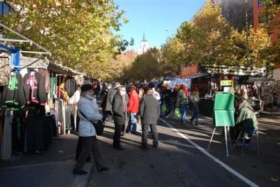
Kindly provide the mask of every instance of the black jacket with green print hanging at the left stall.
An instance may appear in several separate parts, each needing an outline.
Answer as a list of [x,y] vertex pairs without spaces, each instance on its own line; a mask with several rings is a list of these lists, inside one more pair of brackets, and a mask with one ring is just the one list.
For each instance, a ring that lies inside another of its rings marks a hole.
[[23,80],[19,73],[11,72],[8,78],[8,86],[5,97],[5,104],[10,108],[25,105],[25,95],[23,94]]

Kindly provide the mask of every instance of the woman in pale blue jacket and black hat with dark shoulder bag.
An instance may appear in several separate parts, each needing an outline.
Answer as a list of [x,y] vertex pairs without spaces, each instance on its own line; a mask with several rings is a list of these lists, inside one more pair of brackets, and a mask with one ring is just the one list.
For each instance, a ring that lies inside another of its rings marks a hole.
[[90,155],[90,152],[92,152],[94,157],[97,172],[103,172],[109,168],[102,165],[102,158],[99,152],[99,142],[96,137],[97,132],[92,124],[98,123],[98,120],[102,120],[103,116],[99,113],[97,102],[92,97],[94,93],[92,85],[82,85],[80,90],[81,97],[78,102],[78,116],[80,118],[80,122],[78,132],[79,139],[82,141],[82,151],[76,161],[73,174],[87,174],[87,172],[83,170],[83,165]]

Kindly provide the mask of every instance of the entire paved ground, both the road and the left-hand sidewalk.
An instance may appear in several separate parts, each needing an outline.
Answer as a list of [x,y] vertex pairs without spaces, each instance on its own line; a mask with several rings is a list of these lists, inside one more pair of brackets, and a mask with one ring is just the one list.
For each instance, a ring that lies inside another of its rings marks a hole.
[[43,154],[0,162],[0,186],[279,186],[279,118],[258,118],[259,157],[253,141],[244,156],[237,146],[227,157],[221,130],[214,135],[211,155],[204,150],[211,137],[211,118],[200,117],[198,127],[179,125],[178,118],[160,119],[160,145],[153,148],[150,139],[148,151],[139,147],[140,125],[137,135],[122,137],[125,151],[113,149],[113,123],[107,123],[99,139],[110,170],[97,174],[93,163],[87,163],[85,169],[92,170],[87,176],[71,173],[77,136],[59,136]]

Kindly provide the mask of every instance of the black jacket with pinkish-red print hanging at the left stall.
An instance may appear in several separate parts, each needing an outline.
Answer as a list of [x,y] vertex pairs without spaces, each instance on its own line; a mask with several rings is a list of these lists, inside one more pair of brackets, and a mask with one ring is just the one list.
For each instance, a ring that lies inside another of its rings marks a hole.
[[27,103],[37,103],[45,105],[47,95],[45,94],[45,79],[38,71],[30,71],[23,78],[25,101]]

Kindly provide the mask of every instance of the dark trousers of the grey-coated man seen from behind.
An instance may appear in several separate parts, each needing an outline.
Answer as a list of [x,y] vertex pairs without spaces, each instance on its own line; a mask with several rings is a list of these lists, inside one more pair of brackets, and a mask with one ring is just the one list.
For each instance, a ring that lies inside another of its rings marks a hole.
[[153,134],[153,146],[158,146],[158,130],[157,125],[154,124],[142,124],[142,146],[148,146],[148,129],[151,127]]

